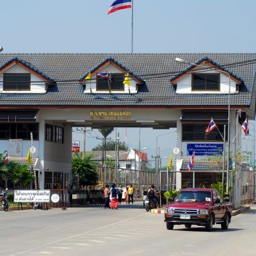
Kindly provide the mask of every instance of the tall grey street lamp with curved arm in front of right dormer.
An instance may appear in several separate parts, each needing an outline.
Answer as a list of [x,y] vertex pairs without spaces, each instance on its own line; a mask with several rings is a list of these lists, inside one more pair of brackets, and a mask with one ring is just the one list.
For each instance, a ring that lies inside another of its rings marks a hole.
[[[180,59],[180,58],[175,58],[175,61],[179,61],[181,63],[189,64],[189,65],[194,65],[197,67],[201,67],[202,65],[197,65],[195,63],[190,63],[189,61]],[[230,159],[230,87],[231,87],[231,79],[230,79],[230,74],[227,71],[223,71],[214,67],[211,67],[213,70],[223,72],[227,74],[228,76],[228,156],[227,156],[227,188],[226,192],[228,194],[228,187],[229,187],[229,159]],[[224,151],[224,150],[223,150]],[[223,156],[225,155],[225,152],[223,152]]]

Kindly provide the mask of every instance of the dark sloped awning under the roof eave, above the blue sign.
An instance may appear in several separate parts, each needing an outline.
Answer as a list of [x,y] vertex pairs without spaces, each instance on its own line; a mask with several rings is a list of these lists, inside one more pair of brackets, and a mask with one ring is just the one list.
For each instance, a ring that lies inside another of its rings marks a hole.
[[209,122],[213,118],[214,122],[228,122],[228,111],[182,111],[180,121],[184,122]]

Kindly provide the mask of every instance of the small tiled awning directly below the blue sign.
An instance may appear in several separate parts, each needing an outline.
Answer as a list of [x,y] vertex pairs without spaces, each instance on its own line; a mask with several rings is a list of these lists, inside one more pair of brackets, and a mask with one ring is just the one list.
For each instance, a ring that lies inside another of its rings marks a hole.
[[[189,158],[182,159],[182,165],[180,171],[186,171],[188,166]],[[214,161],[214,159],[195,159],[194,167],[191,171],[222,171],[222,163],[218,163],[218,161]],[[227,163],[225,163],[225,168],[227,169]]]

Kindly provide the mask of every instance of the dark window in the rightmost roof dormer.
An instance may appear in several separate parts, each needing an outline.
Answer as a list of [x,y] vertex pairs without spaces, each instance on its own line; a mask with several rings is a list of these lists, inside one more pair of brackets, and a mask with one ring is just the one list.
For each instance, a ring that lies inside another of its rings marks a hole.
[[192,91],[220,91],[220,74],[192,74]]

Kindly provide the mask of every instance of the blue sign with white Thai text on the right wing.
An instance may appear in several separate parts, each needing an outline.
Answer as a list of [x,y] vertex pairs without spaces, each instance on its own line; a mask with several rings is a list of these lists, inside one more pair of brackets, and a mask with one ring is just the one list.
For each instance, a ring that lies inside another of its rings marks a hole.
[[187,156],[214,156],[223,154],[223,144],[187,144]]

